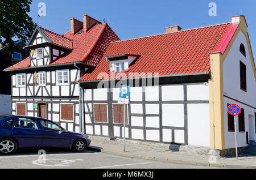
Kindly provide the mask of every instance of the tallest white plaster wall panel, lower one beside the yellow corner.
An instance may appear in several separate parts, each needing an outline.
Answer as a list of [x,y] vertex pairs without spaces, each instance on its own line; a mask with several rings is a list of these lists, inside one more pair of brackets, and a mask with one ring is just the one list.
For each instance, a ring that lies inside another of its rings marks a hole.
[[188,144],[210,147],[209,104],[188,104]]

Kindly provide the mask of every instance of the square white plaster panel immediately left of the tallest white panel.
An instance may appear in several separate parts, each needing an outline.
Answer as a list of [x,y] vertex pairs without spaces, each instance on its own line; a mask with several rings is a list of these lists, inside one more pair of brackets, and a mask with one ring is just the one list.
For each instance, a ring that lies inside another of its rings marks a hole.
[[184,127],[184,105],[163,104],[163,126]]

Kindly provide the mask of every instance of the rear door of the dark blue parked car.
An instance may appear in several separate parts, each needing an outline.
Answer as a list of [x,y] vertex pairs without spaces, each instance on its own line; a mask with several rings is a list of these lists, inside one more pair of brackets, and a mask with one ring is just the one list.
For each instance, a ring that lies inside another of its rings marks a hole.
[[13,127],[13,136],[18,139],[19,147],[42,146],[43,132],[34,118],[19,117]]

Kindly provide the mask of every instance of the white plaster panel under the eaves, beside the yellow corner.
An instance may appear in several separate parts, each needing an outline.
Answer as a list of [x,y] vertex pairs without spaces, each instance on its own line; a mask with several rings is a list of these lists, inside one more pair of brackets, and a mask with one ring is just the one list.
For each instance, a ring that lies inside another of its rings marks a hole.
[[209,100],[208,84],[193,84],[187,85],[188,101],[192,100]]

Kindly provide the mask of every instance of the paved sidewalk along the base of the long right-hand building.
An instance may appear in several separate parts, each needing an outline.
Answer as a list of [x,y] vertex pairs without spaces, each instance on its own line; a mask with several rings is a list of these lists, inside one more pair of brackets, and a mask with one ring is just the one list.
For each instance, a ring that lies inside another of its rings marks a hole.
[[150,145],[135,144],[129,141],[126,141],[126,152],[123,152],[123,142],[120,140],[103,139],[97,136],[90,136],[90,138],[92,139],[90,148],[116,156],[220,168],[256,168],[256,156],[251,155],[240,155],[238,160],[236,160],[236,157],[217,158],[216,163],[210,164],[210,155],[174,152],[164,148],[157,149]]

